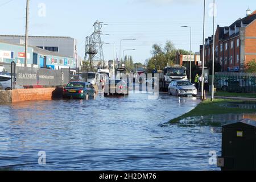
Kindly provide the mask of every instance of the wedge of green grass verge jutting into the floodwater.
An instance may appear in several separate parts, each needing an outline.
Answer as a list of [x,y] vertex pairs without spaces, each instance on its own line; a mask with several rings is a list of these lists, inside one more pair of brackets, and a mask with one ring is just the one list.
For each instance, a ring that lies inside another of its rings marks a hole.
[[256,113],[256,109],[241,109],[233,107],[225,107],[221,105],[227,104],[242,104],[244,101],[227,100],[227,99],[216,99],[213,102],[210,100],[203,101],[196,106],[195,109],[189,111],[186,114],[181,115],[175,119],[172,119],[171,123],[179,123],[182,119],[189,117],[200,117],[215,114],[242,114],[242,113]]

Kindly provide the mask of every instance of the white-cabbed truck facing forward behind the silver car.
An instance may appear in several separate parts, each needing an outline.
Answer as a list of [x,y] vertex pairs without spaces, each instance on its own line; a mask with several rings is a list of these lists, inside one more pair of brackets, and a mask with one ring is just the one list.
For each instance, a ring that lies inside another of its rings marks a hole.
[[159,73],[159,89],[167,92],[170,83],[177,80],[188,80],[187,68],[181,65],[165,67],[163,72]]

